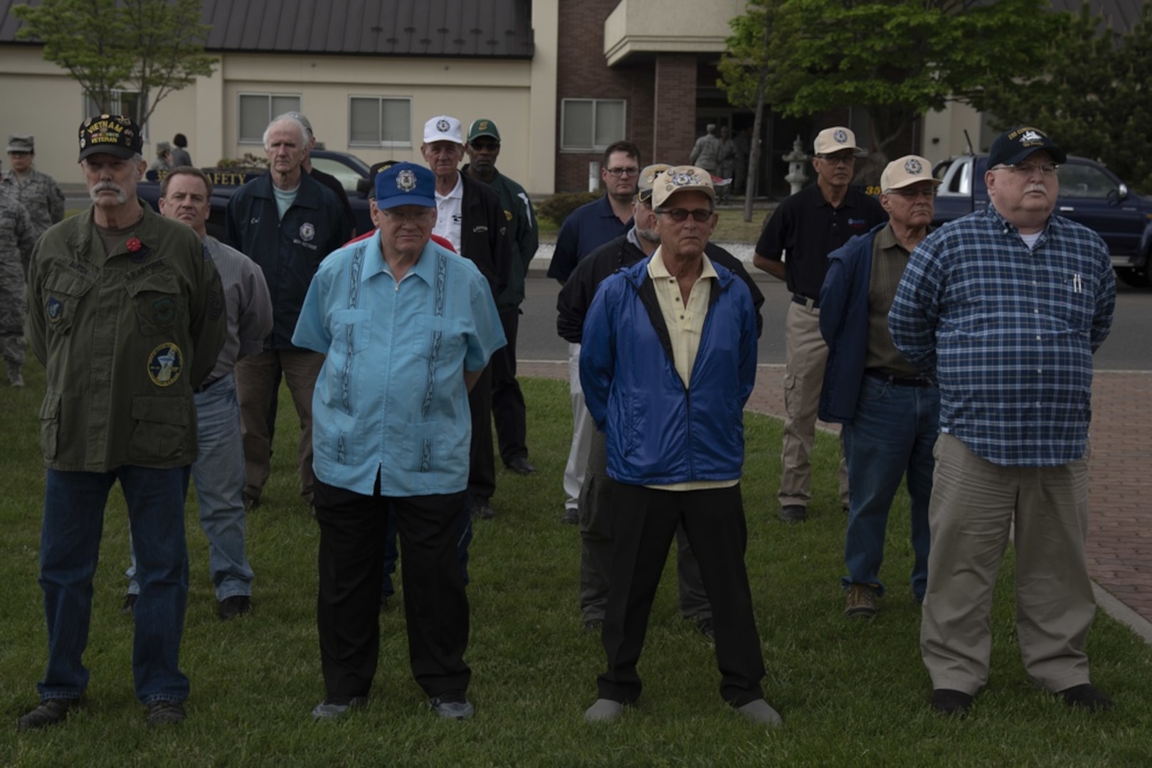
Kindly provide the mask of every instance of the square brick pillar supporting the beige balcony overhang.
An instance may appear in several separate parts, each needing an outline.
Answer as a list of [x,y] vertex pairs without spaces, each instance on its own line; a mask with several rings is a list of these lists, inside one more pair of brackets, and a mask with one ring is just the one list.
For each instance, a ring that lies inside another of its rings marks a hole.
[[696,70],[695,54],[657,54],[652,162],[688,162],[696,142]]

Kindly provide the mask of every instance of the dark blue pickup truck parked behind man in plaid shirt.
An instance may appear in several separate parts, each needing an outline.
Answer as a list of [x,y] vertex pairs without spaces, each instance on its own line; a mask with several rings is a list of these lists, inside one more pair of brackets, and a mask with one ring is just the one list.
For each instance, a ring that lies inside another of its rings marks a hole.
[[[987,207],[987,167],[986,154],[963,154],[935,166],[933,175],[942,183],[937,191],[934,225]],[[1115,174],[1085,158],[1068,158],[1059,177],[1055,212],[1104,238],[1122,282],[1152,287],[1152,199],[1130,192]]]

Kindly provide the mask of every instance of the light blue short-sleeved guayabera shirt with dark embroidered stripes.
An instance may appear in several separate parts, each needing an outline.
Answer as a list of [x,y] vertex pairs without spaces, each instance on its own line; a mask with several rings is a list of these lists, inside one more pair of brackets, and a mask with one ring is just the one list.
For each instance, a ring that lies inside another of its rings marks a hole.
[[468,485],[464,371],[505,345],[492,290],[434,243],[396,283],[369,237],[320,263],[293,344],[326,355],[312,396],[312,467],[324,482],[385,496]]

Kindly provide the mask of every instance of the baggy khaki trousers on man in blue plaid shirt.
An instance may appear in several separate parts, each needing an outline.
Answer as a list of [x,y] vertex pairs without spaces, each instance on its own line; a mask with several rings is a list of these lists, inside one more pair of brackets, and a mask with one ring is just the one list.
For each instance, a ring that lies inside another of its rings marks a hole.
[[933,689],[976,694],[988,680],[992,590],[1015,523],[1016,634],[1037,685],[1089,682],[1096,616],[1087,576],[1087,459],[1000,466],[949,434],[937,440],[920,656]]

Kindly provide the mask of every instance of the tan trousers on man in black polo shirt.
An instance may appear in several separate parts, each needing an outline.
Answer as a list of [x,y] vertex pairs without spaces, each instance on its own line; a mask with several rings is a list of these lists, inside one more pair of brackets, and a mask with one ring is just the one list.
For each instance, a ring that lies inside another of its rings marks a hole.
[[[820,335],[820,311],[789,302],[785,317],[785,438],[780,451],[781,507],[806,508],[812,501],[812,442],[824,386],[828,347]],[[840,505],[848,509],[848,466],[843,449],[836,478]]]

